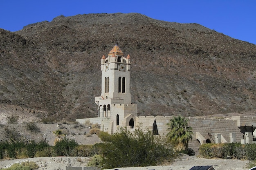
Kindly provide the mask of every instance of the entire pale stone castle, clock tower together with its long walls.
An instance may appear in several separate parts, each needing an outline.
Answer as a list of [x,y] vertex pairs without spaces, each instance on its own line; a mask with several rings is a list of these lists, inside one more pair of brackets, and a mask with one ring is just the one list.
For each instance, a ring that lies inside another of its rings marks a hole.
[[[137,104],[131,104],[130,94],[130,55],[124,57],[118,45],[115,45],[101,58],[101,96],[95,97],[98,105],[98,117],[76,119],[81,124],[90,121],[101,125],[101,131],[114,134],[118,127],[130,131],[137,126],[152,130],[153,135],[165,136],[167,123],[172,116],[137,116]],[[234,116],[231,119],[213,119],[187,117],[193,129],[193,140],[189,148],[198,154],[198,148],[205,143],[254,143],[256,117]]]

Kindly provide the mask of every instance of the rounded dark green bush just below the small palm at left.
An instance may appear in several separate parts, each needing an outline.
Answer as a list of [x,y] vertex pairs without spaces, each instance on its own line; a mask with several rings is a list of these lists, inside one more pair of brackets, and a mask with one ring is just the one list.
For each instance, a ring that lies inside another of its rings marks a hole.
[[74,139],[68,139],[67,137],[56,142],[53,147],[54,156],[70,156],[70,153],[74,152],[73,150],[78,146]]

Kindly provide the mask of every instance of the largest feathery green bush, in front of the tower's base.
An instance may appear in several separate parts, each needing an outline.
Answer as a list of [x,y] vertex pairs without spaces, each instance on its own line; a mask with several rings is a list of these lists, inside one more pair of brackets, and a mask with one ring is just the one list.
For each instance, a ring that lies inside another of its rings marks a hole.
[[114,135],[100,132],[99,137],[105,142],[101,145],[103,168],[153,166],[174,154],[165,138],[155,137],[150,130],[121,128]]

